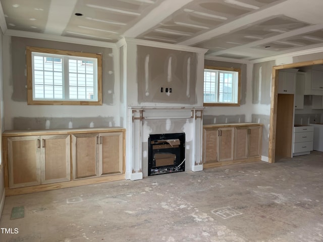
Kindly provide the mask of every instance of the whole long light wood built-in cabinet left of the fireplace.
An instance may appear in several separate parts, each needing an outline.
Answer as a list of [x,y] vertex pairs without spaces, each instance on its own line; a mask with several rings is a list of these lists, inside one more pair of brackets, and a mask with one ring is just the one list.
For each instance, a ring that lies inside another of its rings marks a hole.
[[6,195],[125,179],[125,134],[120,127],[5,131]]

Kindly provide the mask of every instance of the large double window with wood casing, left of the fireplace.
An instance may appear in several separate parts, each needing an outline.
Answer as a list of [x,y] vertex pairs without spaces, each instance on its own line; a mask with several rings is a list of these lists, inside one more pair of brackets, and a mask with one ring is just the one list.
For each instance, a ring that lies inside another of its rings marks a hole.
[[100,105],[101,55],[27,47],[28,104]]

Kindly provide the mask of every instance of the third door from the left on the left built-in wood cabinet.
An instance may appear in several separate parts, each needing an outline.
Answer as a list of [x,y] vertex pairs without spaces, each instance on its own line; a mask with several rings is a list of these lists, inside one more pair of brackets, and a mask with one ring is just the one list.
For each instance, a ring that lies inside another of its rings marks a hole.
[[73,178],[98,176],[98,134],[72,136]]

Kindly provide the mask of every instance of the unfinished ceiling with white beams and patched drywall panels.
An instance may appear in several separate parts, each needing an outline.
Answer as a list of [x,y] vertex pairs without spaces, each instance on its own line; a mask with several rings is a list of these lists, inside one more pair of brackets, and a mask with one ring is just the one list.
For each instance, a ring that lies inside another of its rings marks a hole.
[[[131,37],[256,59],[323,46],[323,0],[0,0],[0,26],[117,42]],[[83,14],[76,16],[75,13]]]

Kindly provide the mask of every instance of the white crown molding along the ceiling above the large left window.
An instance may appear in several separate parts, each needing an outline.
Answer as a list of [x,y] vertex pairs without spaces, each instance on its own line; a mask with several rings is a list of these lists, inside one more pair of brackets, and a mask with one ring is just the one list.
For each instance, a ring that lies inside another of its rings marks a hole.
[[105,47],[105,48],[117,48],[117,45],[115,43],[89,40],[89,39],[79,39],[79,38],[68,37],[68,36],[58,36],[58,35],[52,35],[52,34],[34,33],[34,32],[27,32],[27,31],[21,31],[21,30],[8,29],[5,35],[32,38],[32,39],[59,41],[59,42],[66,42],[66,43],[73,43],[73,44],[84,44],[84,45],[91,45],[91,46],[98,46],[98,47]]

